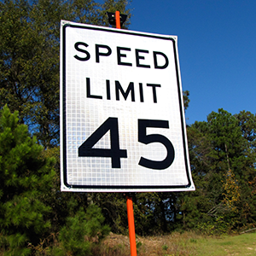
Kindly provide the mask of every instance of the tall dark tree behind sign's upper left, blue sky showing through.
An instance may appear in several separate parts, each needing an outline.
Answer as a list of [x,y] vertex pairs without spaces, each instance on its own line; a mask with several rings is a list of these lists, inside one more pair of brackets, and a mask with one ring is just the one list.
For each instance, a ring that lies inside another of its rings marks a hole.
[[[108,26],[106,11],[125,0],[0,1],[0,108],[18,110],[45,148],[59,143],[60,21]],[[125,23],[129,25],[129,19]]]

